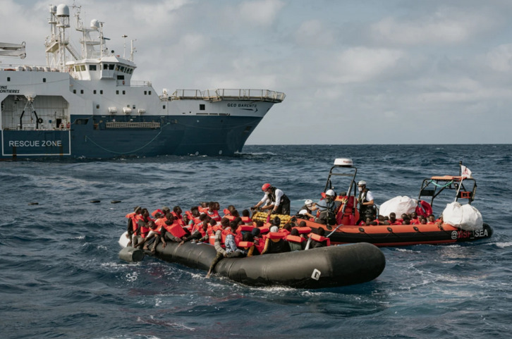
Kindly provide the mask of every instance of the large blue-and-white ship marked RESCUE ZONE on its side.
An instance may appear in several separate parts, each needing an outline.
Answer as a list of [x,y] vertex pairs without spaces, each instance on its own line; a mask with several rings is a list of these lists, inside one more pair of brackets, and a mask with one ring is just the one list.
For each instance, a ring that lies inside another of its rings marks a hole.
[[[285,94],[271,90],[163,90],[133,80],[125,58],[107,49],[103,23],[69,41],[70,10],[50,6],[47,66],[0,63],[0,159],[232,155]],[[124,37],[124,36],[123,36]],[[25,43],[0,42],[0,56],[25,56]]]

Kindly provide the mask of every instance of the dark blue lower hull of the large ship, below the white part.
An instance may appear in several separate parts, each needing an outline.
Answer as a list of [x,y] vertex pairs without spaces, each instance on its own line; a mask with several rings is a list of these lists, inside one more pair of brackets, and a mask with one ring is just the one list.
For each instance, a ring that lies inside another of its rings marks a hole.
[[[232,156],[242,150],[250,132],[262,118],[145,116],[144,121],[157,121],[154,127],[147,128],[130,125],[107,128],[106,123],[113,120],[111,117],[72,116],[71,119],[74,123],[69,130],[2,130],[1,159]],[[117,118],[115,123],[119,120]],[[138,123],[138,119],[130,120]]]

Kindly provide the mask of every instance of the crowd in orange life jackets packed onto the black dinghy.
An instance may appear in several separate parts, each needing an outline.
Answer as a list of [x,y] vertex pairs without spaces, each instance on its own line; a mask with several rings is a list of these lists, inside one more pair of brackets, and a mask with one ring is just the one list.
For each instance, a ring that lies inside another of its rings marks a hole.
[[[273,187],[264,187],[268,192],[276,191]],[[279,202],[286,201],[284,197],[277,195]],[[185,212],[179,206],[173,207],[172,211],[162,207],[151,213],[148,209],[135,207],[126,215],[128,246],[154,254],[159,244],[166,247],[168,242],[178,242],[179,247],[185,242],[207,242],[217,250],[209,276],[224,257],[250,257],[331,245],[323,228],[312,229],[305,221],[296,218],[281,225],[281,218],[272,216],[276,211],[281,212],[274,209],[275,199],[276,195],[269,197],[259,209],[269,212],[267,222],[252,221],[250,210],[244,209],[240,215],[233,205],[224,209],[221,216],[219,202],[203,202]],[[258,211],[257,207],[252,211]]]

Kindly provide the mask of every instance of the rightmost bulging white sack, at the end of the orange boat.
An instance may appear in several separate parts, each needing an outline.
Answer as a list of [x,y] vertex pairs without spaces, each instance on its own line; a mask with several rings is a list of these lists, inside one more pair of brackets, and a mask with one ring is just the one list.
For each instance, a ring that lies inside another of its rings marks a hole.
[[470,204],[461,205],[458,202],[446,204],[443,221],[451,226],[461,228],[461,230],[482,230],[484,228],[482,214]]

